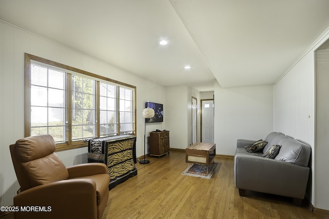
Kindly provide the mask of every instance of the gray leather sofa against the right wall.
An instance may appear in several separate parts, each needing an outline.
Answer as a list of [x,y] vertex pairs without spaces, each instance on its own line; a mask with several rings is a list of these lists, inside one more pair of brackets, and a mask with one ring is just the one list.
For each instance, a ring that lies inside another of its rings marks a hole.
[[[264,192],[294,198],[301,205],[309,175],[310,146],[293,137],[271,132],[265,140],[266,146],[258,152],[245,148],[256,141],[239,139],[234,155],[234,180],[241,196],[245,190]],[[273,145],[281,145],[274,158],[262,155]]]

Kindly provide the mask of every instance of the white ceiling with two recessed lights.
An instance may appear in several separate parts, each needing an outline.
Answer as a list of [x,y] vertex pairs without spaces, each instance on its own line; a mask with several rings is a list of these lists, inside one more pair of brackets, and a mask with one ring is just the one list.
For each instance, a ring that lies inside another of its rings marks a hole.
[[0,17],[163,86],[209,91],[214,79],[275,83],[329,27],[329,1],[0,0]]

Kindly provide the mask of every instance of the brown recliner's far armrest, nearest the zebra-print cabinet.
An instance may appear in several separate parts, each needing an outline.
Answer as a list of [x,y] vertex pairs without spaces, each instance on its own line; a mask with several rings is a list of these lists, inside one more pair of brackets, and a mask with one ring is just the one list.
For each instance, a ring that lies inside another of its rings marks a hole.
[[107,174],[107,167],[102,163],[78,164],[67,168],[68,178],[76,178],[82,176]]

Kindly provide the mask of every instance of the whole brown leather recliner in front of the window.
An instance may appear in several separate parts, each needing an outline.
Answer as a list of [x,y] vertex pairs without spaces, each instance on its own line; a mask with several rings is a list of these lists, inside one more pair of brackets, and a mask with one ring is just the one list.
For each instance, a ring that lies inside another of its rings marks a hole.
[[101,218],[108,199],[105,164],[66,168],[54,153],[51,135],[37,135],[10,145],[20,183],[14,196],[15,219]]

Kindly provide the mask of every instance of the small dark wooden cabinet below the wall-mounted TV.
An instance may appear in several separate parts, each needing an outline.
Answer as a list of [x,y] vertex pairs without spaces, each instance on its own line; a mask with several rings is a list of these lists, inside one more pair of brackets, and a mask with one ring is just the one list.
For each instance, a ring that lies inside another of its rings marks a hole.
[[150,132],[150,155],[162,156],[169,154],[169,131]]

